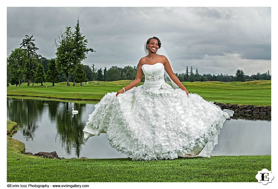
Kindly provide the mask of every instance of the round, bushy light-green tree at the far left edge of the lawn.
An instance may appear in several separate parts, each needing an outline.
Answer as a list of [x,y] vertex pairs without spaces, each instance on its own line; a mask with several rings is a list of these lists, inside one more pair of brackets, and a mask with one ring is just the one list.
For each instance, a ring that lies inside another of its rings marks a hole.
[[28,62],[28,54],[20,48],[11,51],[7,58],[7,70],[11,77],[11,85],[18,81],[20,86],[22,79],[25,76],[26,63]]

